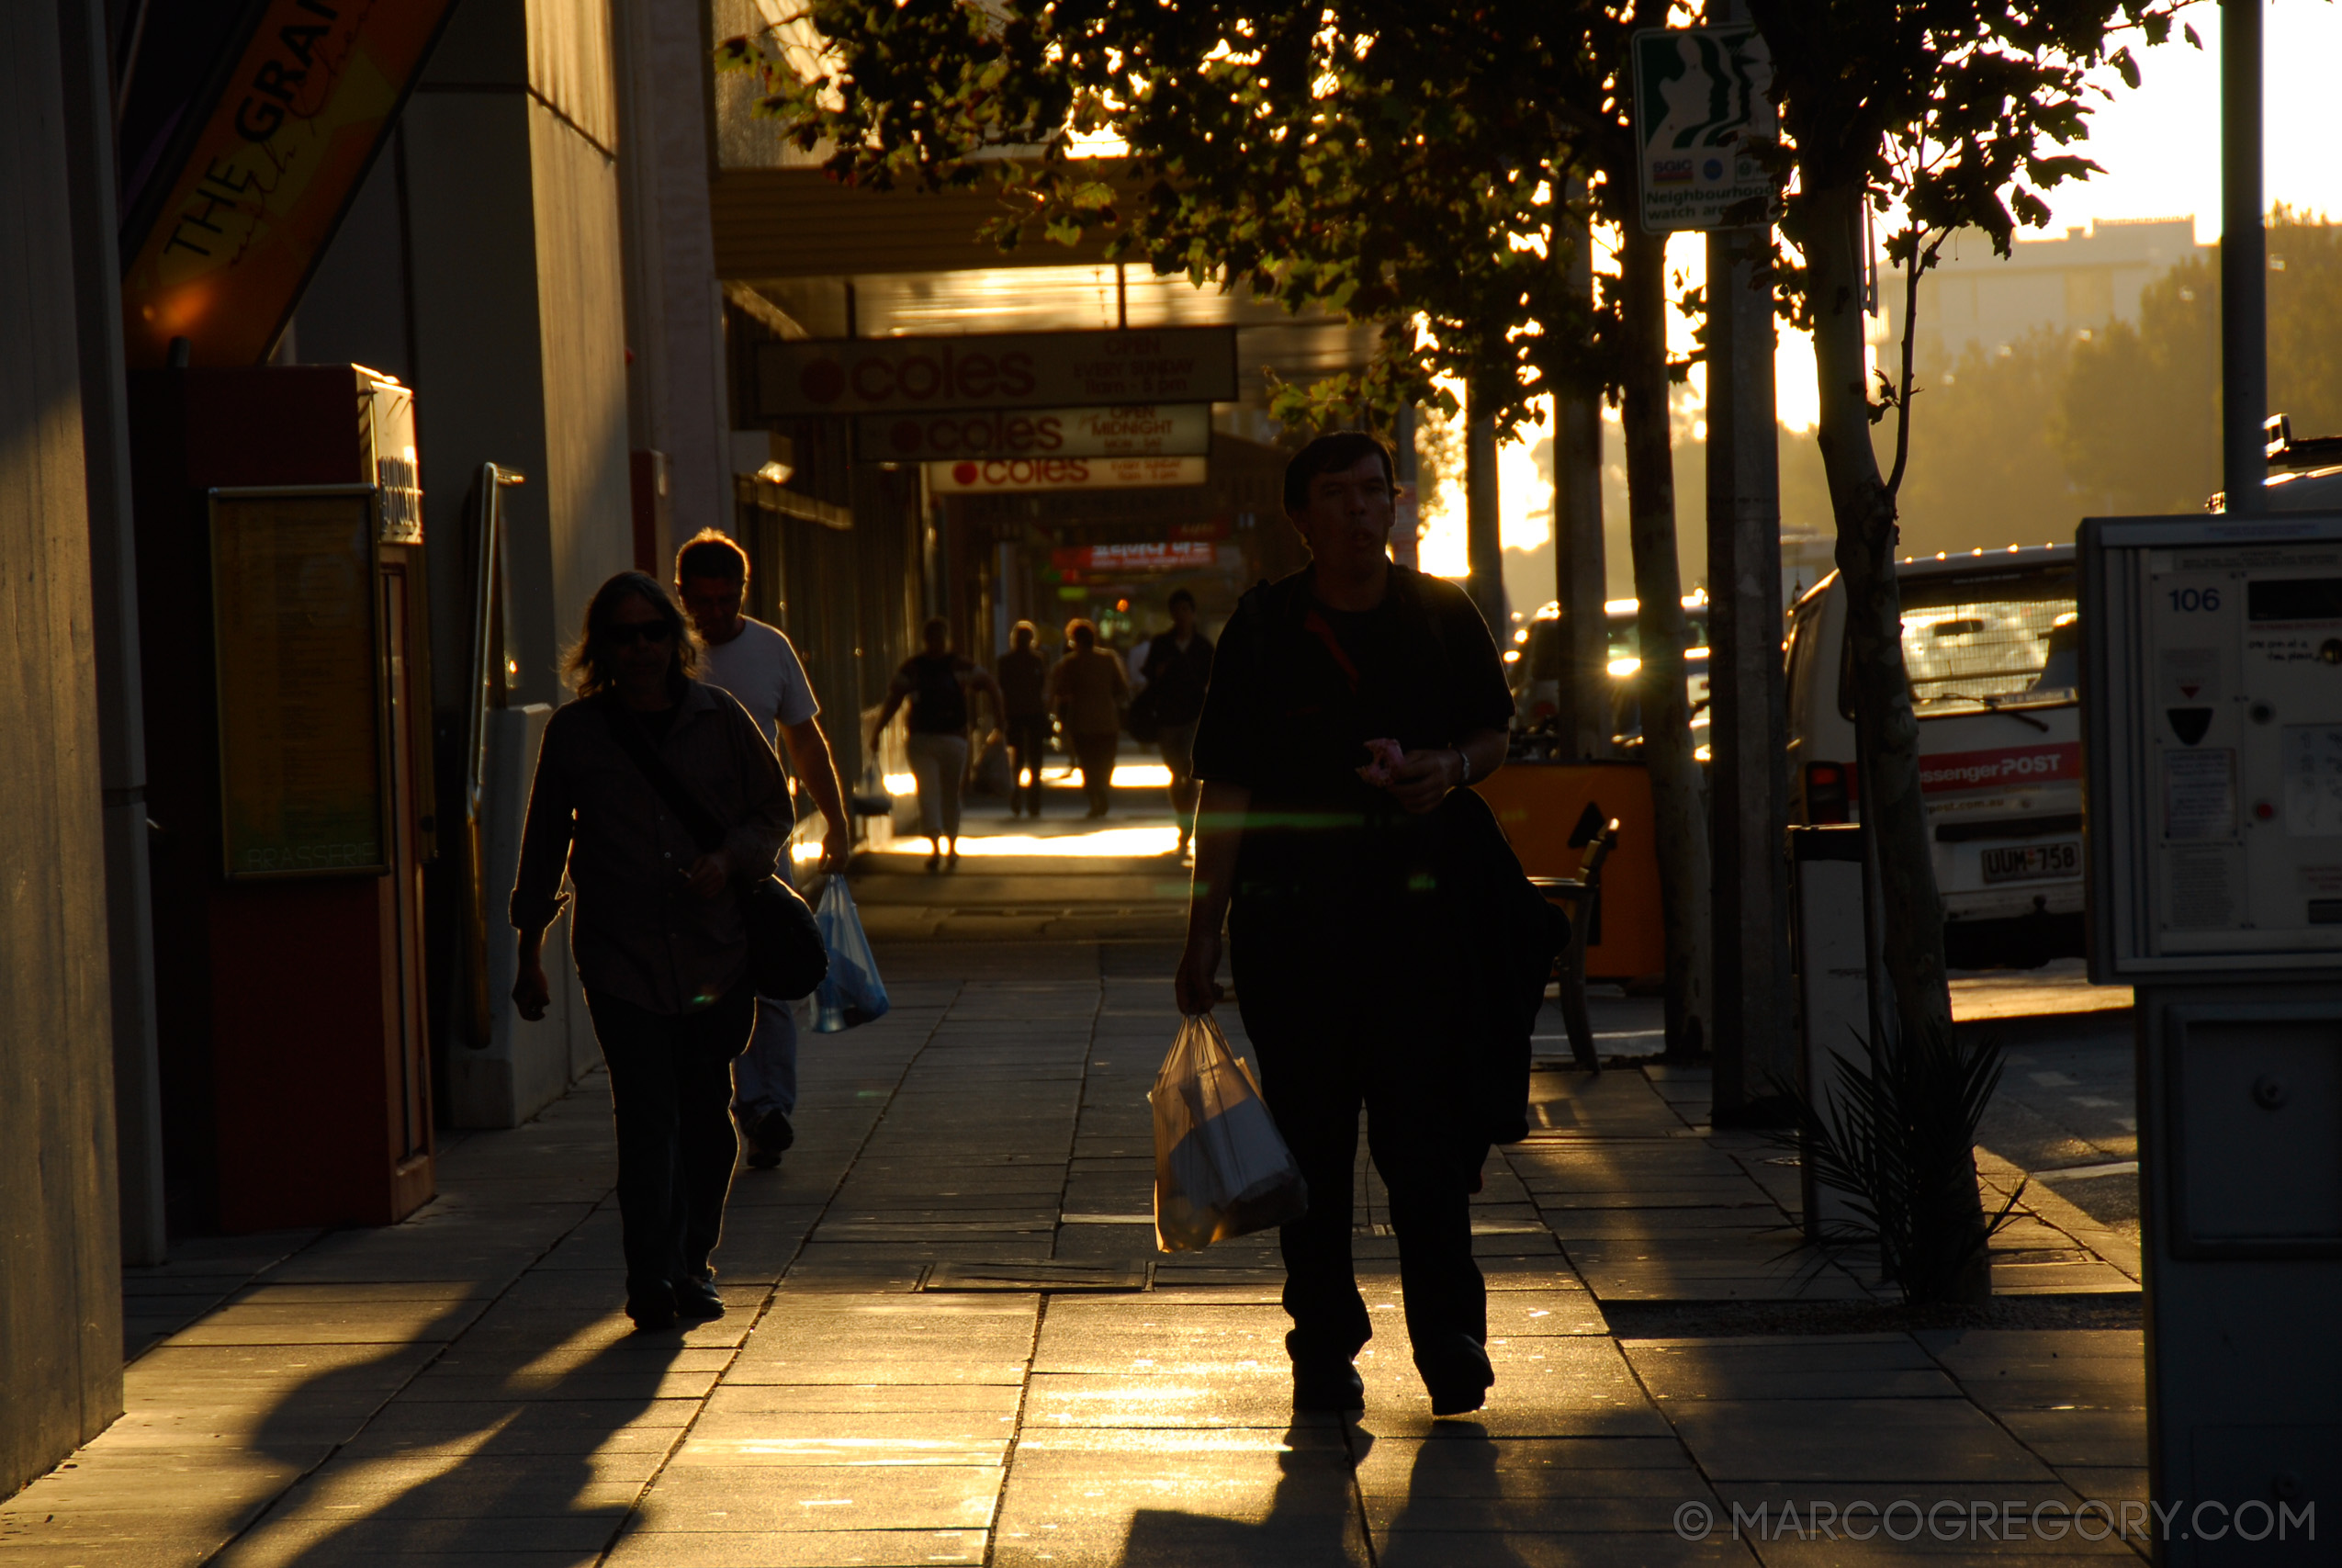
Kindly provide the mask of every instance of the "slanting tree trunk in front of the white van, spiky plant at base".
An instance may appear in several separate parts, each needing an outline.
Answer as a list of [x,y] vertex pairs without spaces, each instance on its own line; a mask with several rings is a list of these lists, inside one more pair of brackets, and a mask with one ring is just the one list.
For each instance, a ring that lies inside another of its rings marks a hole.
[[[1855,724],[1862,734],[1857,788],[1878,846],[1881,916],[1895,1022],[1906,1050],[1951,1048],[1951,991],[1944,980],[1944,900],[1934,886],[1927,806],[1918,788],[1918,717],[1902,656],[1902,598],[1895,584],[1895,497],[1871,448],[1869,375],[1862,352],[1862,185],[1808,190],[1806,244],[1813,298],[1813,354],[1822,394],[1815,438],[1838,523],[1845,579],[1848,659]],[[1988,1301],[1984,1209],[1974,1170],[1963,1209],[1974,1223],[1974,1259],[1956,1298]]]

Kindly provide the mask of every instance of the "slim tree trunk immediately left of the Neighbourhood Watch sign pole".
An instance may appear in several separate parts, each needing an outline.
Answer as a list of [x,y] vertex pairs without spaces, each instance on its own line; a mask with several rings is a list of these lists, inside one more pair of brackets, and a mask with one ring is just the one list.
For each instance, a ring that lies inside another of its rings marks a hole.
[[1628,539],[1642,640],[1642,759],[1651,771],[1658,844],[1658,905],[1668,942],[1668,1055],[1707,1045],[1714,987],[1707,926],[1707,804],[1691,755],[1691,696],[1684,691],[1684,574],[1675,558],[1675,455],[1668,427],[1668,239],[1632,220],[1618,258],[1628,363],[1621,375],[1625,429]]

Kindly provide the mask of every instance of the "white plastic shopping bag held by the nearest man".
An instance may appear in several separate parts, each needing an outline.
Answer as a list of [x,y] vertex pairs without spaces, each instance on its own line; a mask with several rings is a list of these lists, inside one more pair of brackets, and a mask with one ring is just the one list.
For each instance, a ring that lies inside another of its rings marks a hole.
[[1155,1106],[1155,1247],[1194,1252],[1309,1207],[1260,1085],[1211,1013],[1183,1020],[1148,1095]]

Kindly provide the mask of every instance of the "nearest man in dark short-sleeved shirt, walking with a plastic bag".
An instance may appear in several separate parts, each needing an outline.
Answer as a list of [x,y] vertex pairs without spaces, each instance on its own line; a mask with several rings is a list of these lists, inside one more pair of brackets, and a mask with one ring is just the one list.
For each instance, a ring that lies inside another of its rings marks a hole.
[[[1480,1409],[1487,1289],[1471,1191],[1490,1130],[1452,977],[1443,799],[1504,764],[1511,694],[1471,600],[1389,560],[1393,471],[1372,436],[1319,436],[1283,504],[1312,565],[1244,595],[1194,736],[1204,783],[1185,1015],[1220,996],[1227,923],[1262,1092],[1309,1186],[1281,1230],[1295,1409],[1358,1409],[1372,1336],[1351,1270],[1358,1113],[1391,1193],[1415,1366],[1438,1416]],[[1522,1092],[1525,1099],[1525,1092]],[[1518,1137],[1518,1134],[1515,1134]]]

